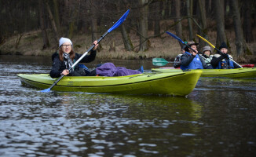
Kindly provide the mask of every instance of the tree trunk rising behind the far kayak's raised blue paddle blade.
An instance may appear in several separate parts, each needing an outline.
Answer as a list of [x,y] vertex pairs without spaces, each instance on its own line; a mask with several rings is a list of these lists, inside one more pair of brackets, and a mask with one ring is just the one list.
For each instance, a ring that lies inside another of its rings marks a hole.
[[[178,20],[181,19],[181,1],[180,0],[175,0],[174,1],[175,3],[175,22],[177,22]],[[176,35],[180,38],[183,38],[183,35],[182,35],[182,26],[181,26],[181,21],[178,22],[176,25],[175,25],[175,30],[176,30]],[[180,43],[180,46],[182,47],[183,44],[181,42]]]

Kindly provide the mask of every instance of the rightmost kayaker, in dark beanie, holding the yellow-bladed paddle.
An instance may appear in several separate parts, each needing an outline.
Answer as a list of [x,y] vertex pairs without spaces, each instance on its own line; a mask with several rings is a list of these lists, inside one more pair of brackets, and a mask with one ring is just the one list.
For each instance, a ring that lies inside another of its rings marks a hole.
[[214,54],[213,59],[210,61],[210,64],[215,69],[240,68],[239,65],[235,64],[232,61],[232,56],[228,54],[229,49],[225,42],[221,43],[221,46],[219,47],[219,49],[221,50],[221,53],[217,52],[216,54]]

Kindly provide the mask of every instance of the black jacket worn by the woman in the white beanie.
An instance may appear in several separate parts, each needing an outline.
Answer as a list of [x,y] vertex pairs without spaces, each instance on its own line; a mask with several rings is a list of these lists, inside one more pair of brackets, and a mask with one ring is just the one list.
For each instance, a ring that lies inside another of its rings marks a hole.
[[[81,56],[82,56],[82,54],[75,53],[75,59],[73,60],[73,63],[75,63],[76,60],[79,60],[79,58]],[[91,50],[90,55],[86,55],[85,57],[83,57],[79,63],[89,63],[89,62],[93,61],[95,59],[95,57],[96,57],[96,51]],[[53,65],[52,65],[51,71],[49,72],[49,75],[52,78],[58,78],[58,77],[60,77],[61,72],[67,68],[64,64],[64,61],[60,61],[58,52],[53,53],[52,60],[53,60]],[[75,71],[78,71],[78,70],[79,70],[79,64],[76,64]]]

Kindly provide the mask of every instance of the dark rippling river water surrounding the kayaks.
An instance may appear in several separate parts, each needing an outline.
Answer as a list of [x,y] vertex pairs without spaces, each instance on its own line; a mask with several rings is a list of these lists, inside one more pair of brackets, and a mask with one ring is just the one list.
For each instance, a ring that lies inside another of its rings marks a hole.
[[50,67],[0,56],[0,156],[256,156],[256,79],[201,78],[187,97],[166,97],[41,93],[16,76]]

